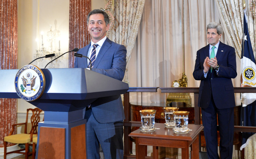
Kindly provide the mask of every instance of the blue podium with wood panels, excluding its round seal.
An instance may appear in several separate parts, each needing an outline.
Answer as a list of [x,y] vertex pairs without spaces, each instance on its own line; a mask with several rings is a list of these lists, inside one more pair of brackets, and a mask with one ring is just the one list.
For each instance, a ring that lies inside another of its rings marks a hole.
[[[0,98],[20,98],[15,90],[19,70],[0,70]],[[42,69],[45,90],[29,103],[45,111],[39,123],[36,158],[85,159],[83,108],[100,97],[124,94],[127,83],[83,69]]]

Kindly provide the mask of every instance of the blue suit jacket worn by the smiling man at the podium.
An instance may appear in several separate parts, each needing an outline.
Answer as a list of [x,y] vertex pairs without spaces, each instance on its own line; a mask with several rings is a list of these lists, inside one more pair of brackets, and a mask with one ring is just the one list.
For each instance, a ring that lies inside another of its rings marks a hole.
[[[79,49],[78,54],[87,56],[91,43]],[[88,68],[87,58],[75,58],[75,68]],[[126,48],[108,38],[104,41],[96,57],[92,71],[108,77],[123,80],[126,68]],[[91,111],[99,123],[110,123],[125,119],[120,95],[96,99],[91,103]],[[85,113],[86,114],[86,113]],[[89,117],[85,116],[85,119]]]

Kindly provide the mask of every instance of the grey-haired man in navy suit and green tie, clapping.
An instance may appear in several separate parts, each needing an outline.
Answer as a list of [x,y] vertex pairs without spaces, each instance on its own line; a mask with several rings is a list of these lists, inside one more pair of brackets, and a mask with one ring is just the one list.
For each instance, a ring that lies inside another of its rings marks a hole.
[[[198,106],[201,107],[204,137],[209,159],[219,159],[217,121],[220,133],[220,158],[232,159],[235,96],[231,79],[237,76],[235,49],[219,41],[222,26],[207,26],[207,46],[196,53],[193,77],[201,80]],[[218,118],[217,118],[218,115]]]

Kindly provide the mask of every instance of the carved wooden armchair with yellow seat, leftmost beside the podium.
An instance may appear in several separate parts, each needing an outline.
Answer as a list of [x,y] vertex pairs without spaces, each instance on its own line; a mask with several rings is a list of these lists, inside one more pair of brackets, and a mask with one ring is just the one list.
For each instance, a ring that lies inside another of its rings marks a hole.
[[[27,133],[27,127],[28,127],[28,115],[29,112],[32,111],[32,116],[31,116],[31,130],[29,133]],[[6,155],[11,154],[11,153],[20,153],[20,154],[25,154],[25,159],[28,159],[29,156],[32,155],[31,152],[29,152],[29,143],[32,142],[33,137],[37,136],[37,130],[34,129],[35,125],[38,125],[40,122],[40,113],[42,112],[41,109],[35,108],[35,109],[27,109],[27,117],[26,117],[26,122],[25,123],[19,123],[19,124],[13,124],[12,125],[12,131],[9,133],[8,136],[4,137],[4,159],[6,159]],[[24,133],[19,133],[19,134],[14,134],[13,132],[15,130],[15,127],[17,125],[25,125]],[[16,143],[16,144],[25,144],[25,148],[20,149],[20,150],[15,150],[11,152],[7,152],[7,142],[10,143]],[[25,152],[21,152],[24,151]]]

